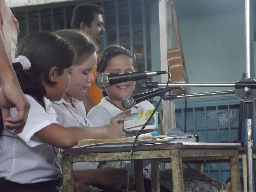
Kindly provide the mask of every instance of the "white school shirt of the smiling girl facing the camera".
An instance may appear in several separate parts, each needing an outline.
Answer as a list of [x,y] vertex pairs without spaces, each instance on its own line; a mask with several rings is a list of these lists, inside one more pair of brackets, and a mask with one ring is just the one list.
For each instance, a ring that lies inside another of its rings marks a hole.
[[[142,101],[131,108],[132,113],[137,113],[139,111],[146,111],[154,109],[148,101]],[[107,101],[107,97],[101,99],[101,102],[93,107],[87,114],[87,118],[92,123],[93,127],[100,127],[110,124],[111,118],[115,117],[117,114],[123,112],[118,107],[114,106],[112,103]]]

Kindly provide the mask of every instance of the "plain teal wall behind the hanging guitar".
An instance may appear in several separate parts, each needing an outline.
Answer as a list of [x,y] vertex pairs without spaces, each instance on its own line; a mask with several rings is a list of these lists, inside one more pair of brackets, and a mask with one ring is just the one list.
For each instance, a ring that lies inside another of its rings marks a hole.
[[[159,38],[159,28],[155,27],[158,18],[154,16],[158,12],[157,4],[158,2],[152,3],[152,42],[156,41],[156,37]],[[174,4],[189,82],[241,80],[246,69],[244,1],[175,0]],[[174,47],[175,35],[173,42]],[[160,70],[159,44],[151,45],[154,52],[152,70]],[[232,89],[192,87],[191,93]]]

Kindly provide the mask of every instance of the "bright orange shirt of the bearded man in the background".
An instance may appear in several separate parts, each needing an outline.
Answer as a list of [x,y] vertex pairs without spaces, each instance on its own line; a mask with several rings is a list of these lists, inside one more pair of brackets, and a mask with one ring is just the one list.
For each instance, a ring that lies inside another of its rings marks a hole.
[[[97,58],[99,58],[98,53],[97,53]],[[87,93],[91,97],[92,102],[94,103],[95,106],[98,105],[101,99],[104,97],[102,95],[102,89],[99,88],[95,83],[95,78],[97,76],[96,68],[97,66],[95,66],[92,70],[94,81],[91,83],[91,87],[87,90]]]

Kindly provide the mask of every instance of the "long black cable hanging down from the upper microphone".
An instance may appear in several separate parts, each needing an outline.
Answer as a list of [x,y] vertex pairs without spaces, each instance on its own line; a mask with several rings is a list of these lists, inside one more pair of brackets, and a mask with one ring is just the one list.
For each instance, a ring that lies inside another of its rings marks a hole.
[[129,182],[130,182],[130,175],[131,175],[131,165],[132,165],[132,156],[133,156],[133,152],[134,152],[134,148],[135,148],[135,143],[139,137],[139,135],[141,134],[141,132],[143,131],[143,129],[146,127],[146,125],[148,125],[149,121],[151,120],[151,118],[153,117],[154,113],[156,112],[156,109],[158,108],[158,106],[160,105],[163,97],[165,96],[165,93],[167,91],[168,85],[170,83],[170,78],[171,78],[171,73],[167,72],[168,74],[168,81],[167,84],[165,86],[165,91],[163,92],[161,98],[159,99],[155,109],[153,110],[152,114],[150,115],[149,119],[147,120],[147,122],[143,125],[143,127],[140,129],[140,131],[138,132],[137,136],[134,139],[133,145],[132,145],[132,149],[131,149],[131,157],[130,157],[130,164],[129,164],[129,168],[128,168],[128,177],[127,177],[127,185],[126,185],[126,191],[129,192]]

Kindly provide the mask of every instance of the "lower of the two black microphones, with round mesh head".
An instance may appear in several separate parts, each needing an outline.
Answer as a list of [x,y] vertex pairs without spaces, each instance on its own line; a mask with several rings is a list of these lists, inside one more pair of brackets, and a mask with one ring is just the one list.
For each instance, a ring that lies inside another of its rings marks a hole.
[[[167,88],[166,92],[171,91],[173,89],[173,87],[169,87]],[[134,105],[145,101],[149,98],[155,97],[155,96],[161,96],[165,91],[165,88],[160,88],[154,91],[149,91],[146,93],[142,93],[139,95],[134,95],[134,96],[125,96],[122,98],[121,100],[121,105],[122,107],[124,107],[125,109],[130,109],[132,108]]]

